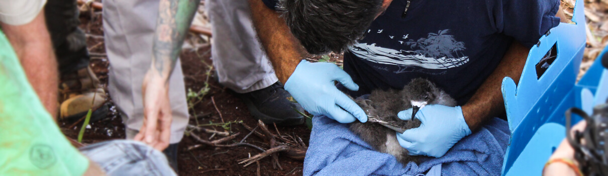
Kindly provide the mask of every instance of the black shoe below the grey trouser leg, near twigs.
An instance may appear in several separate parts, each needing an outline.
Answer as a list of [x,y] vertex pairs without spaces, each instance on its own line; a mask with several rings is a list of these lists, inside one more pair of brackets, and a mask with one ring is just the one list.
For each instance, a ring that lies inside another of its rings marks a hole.
[[252,116],[266,124],[289,126],[304,123],[304,116],[296,111],[304,112],[304,109],[300,104],[288,100],[291,95],[283,89],[280,82],[239,95]]

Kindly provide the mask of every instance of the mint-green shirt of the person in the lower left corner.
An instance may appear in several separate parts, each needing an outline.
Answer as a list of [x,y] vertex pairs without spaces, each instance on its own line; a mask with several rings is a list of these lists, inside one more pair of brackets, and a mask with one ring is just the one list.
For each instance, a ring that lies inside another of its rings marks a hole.
[[0,30],[0,175],[82,175],[88,166],[36,96]]

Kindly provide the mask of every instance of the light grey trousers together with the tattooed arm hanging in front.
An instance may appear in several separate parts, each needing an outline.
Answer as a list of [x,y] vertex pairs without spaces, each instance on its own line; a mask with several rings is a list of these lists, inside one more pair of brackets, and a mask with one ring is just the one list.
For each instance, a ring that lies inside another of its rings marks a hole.
[[[159,8],[159,0],[103,1],[103,31],[110,67],[108,91],[123,118],[126,138],[164,150],[176,171],[178,143],[189,117],[184,75],[177,58],[186,31],[179,30],[184,26],[187,29],[196,5],[171,9]],[[170,12],[159,15],[160,10]],[[176,12],[180,10],[188,12]],[[157,32],[157,26],[165,27],[165,33]],[[149,74],[151,71],[154,74]]]

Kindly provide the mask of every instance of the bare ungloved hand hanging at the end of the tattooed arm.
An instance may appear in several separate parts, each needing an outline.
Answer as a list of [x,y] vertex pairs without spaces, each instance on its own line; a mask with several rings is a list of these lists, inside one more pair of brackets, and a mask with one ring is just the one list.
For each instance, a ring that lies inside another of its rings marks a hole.
[[150,69],[143,78],[142,93],[143,125],[134,140],[162,151],[169,146],[172,120],[166,79]]

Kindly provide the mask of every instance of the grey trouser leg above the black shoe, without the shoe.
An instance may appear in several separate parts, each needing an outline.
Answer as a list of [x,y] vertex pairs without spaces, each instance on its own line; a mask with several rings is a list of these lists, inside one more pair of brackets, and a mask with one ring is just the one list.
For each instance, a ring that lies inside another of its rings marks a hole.
[[251,21],[247,0],[206,0],[211,20],[211,58],[219,83],[237,93],[266,88],[277,82]]

